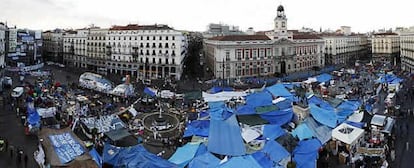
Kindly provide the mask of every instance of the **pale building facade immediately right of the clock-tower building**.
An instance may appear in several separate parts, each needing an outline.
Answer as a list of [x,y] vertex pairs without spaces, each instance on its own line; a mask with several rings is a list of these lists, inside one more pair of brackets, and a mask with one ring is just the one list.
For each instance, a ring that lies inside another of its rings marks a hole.
[[353,64],[368,54],[366,35],[322,34],[326,65]]

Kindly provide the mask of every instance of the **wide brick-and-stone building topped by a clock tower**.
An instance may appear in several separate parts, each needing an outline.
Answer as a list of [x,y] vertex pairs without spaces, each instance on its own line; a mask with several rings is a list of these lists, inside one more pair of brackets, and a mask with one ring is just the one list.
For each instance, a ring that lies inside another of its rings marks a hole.
[[323,40],[288,31],[284,12],[283,6],[277,8],[273,31],[205,40],[206,63],[215,78],[259,77],[322,67]]

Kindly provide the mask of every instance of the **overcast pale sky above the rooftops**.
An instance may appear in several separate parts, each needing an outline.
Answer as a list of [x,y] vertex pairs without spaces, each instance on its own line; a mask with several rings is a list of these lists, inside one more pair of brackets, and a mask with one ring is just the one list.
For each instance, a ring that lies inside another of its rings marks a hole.
[[209,23],[241,30],[270,30],[282,4],[288,29],[309,27],[354,32],[414,26],[410,0],[0,0],[0,22],[18,28],[48,30],[95,24],[168,24],[179,30],[205,31]]

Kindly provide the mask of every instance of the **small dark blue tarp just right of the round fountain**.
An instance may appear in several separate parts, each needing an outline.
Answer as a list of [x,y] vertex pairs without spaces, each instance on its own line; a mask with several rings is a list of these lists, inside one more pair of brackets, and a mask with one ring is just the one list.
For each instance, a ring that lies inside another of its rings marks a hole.
[[190,137],[193,135],[208,137],[210,127],[210,120],[194,120],[187,123],[183,137]]

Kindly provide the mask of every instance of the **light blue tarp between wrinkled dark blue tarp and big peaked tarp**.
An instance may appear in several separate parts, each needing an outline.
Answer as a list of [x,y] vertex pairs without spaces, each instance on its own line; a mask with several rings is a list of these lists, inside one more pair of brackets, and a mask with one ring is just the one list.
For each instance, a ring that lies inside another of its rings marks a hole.
[[168,161],[183,168],[194,158],[199,146],[200,143],[187,143],[179,147]]

